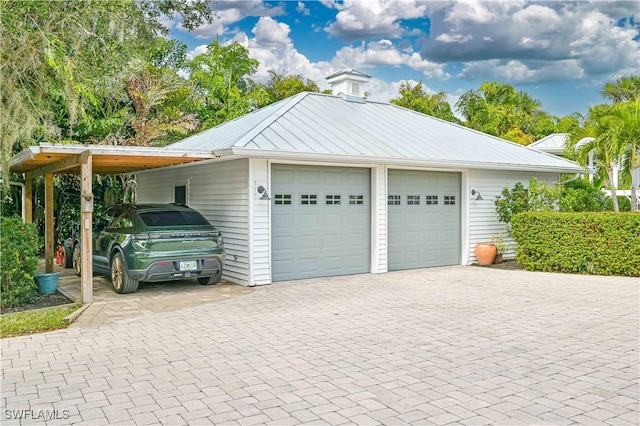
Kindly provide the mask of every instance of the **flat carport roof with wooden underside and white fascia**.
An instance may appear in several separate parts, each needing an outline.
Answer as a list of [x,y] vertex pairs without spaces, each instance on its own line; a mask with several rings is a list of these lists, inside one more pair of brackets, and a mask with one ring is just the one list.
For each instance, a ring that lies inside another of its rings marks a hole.
[[25,148],[9,164],[13,173],[80,173],[77,156],[89,152],[94,173],[118,174],[215,158],[211,151],[166,147],[41,143]]

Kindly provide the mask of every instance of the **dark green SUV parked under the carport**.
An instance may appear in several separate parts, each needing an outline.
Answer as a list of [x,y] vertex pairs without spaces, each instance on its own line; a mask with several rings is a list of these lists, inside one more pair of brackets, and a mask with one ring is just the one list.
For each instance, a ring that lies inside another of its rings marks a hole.
[[[222,278],[220,231],[199,212],[174,204],[121,204],[107,210],[93,231],[93,272],[111,277],[117,293],[133,293],[141,281]],[[79,241],[73,269],[80,275]]]

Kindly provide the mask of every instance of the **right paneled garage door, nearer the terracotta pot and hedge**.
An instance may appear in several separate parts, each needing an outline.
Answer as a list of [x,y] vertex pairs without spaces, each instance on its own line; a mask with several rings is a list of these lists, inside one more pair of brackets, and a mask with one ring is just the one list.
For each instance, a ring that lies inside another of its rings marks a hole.
[[460,263],[460,173],[389,170],[388,269]]

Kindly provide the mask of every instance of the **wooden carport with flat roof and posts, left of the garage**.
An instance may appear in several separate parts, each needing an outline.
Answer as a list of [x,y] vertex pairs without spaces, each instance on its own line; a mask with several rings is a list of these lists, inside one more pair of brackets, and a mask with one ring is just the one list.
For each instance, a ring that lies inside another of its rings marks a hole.
[[9,164],[11,173],[25,177],[25,221],[32,222],[33,178],[44,175],[45,272],[53,272],[53,175],[80,175],[80,222],[82,244],[81,293],[85,303],[93,301],[93,174],[124,174],[216,158],[212,152],[166,147],[51,144],[25,148]]

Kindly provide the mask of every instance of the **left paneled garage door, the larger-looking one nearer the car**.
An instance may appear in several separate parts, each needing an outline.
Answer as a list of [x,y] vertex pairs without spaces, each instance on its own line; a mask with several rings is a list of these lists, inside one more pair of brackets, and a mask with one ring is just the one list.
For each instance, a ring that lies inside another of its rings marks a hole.
[[273,165],[273,281],[369,272],[369,169]]

